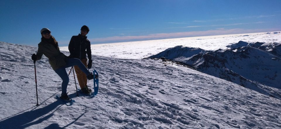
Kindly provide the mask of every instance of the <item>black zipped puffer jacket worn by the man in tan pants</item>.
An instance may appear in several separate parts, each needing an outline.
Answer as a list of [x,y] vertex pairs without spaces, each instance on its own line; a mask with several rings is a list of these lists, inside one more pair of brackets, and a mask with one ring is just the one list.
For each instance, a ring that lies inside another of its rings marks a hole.
[[72,36],[68,45],[68,50],[71,58],[85,59],[87,53],[89,60],[92,60],[91,44],[87,36],[84,38],[81,37],[80,34]]

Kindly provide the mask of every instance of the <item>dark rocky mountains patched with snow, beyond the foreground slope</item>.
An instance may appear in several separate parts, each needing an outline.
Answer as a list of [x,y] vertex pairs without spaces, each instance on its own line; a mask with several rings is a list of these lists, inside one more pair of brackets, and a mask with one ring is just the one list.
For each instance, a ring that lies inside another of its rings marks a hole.
[[280,46],[280,43],[239,41],[227,46],[230,49],[206,51],[196,48],[199,50],[196,53],[194,48],[176,46],[148,58],[165,57],[184,62],[200,72],[281,98]]

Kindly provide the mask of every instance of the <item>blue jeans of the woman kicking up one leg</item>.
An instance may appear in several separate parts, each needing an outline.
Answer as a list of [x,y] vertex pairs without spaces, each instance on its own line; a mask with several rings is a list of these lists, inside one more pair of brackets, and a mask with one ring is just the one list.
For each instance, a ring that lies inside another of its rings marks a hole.
[[68,74],[66,73],[65,68],[71,67],[73,65],[77,65],[86,75],[90,74],[88,69],[83,65],[83,63],[79,59],[68,58],[66,60],[66,65],[64,67],[61,67],[61,68],[55,70],[56,74],[58,74],[59,77],[61,77],[61,79],[62,79],[62,83],[61,83],[61,93],[62,94],[66,94],[66,88],[67,88],[67,85],[69,82],[69,77],[68,77]]

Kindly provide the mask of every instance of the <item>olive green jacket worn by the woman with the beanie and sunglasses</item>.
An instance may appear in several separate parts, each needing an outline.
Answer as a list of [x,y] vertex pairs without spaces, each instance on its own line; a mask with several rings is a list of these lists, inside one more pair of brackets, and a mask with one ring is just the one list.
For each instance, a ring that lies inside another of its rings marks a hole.
[[41,41],[36,53],[37,60],[40,60],[43,54],[49,59],[49,63],[54,70],[66,65],[67,56],[59,51],[59,46],[55,47],[51,43]]

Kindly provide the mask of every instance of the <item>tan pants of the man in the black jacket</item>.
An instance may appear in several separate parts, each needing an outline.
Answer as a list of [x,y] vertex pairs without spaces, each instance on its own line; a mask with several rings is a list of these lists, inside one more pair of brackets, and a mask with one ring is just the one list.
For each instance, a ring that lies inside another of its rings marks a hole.
[[[87,59],[82,59],[81,62],[87,68]],[[74,66],[74,69],[77,75],[79,86],[82,89],[87,85],[87,75],[84,72],[82,72],[82,70],[77,65]]]

